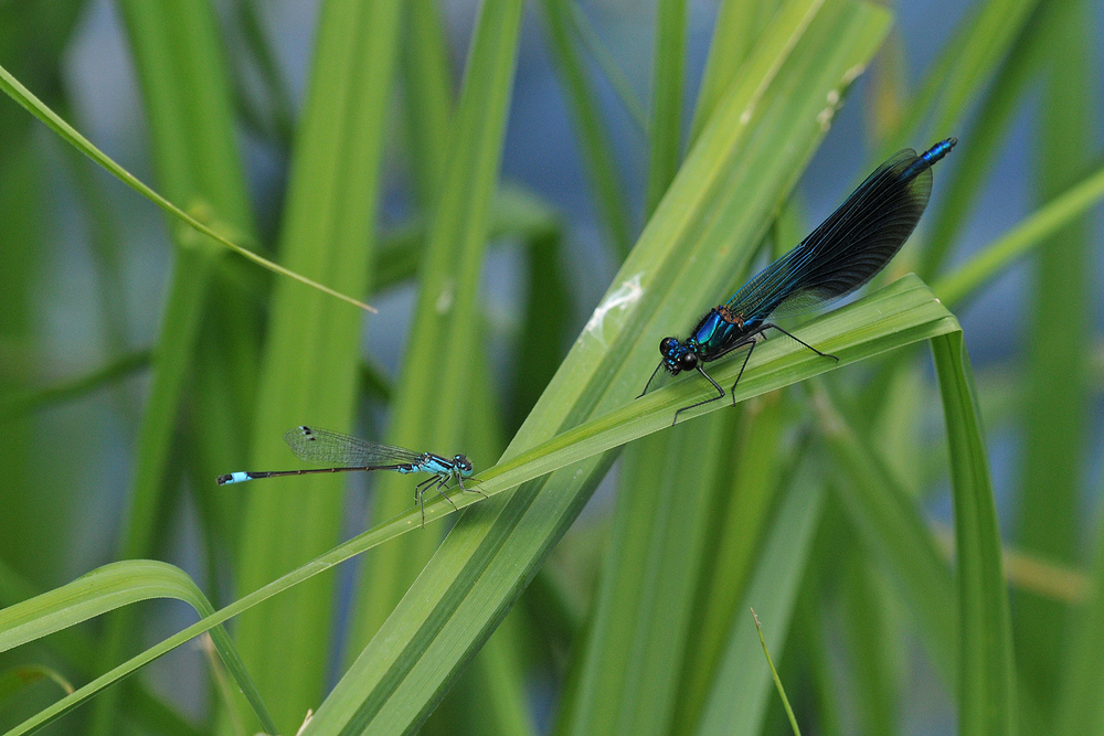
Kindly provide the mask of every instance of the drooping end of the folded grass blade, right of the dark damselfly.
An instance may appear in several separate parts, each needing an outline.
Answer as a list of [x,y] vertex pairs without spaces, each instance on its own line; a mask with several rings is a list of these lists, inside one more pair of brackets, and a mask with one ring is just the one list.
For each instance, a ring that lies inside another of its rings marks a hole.
[[1016,665],[1000,532],[962,333],[932,340],[951,447],[958,584],[958,733],[1016,734]]

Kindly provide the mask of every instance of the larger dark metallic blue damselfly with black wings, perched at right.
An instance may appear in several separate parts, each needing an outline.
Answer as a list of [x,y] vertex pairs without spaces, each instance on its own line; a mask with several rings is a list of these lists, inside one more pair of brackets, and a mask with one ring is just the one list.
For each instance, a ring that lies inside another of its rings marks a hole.
[[[732,384],[735,391],[755,343],[775,329],[824,358],[822,353],[778,327],[768,317],[800,314],[828,305],[874,277],[896,255],[924,214],[932,194],[932,164],[946,156],[958,140],[947,138],[917,154],[911,148],[898,151],[867,177],[851,195],[797,247],[764,268],[731,299],[701,318],[686,340],[664,338],[662,356],[640,396],[664,367],[671,375],[698,371],[716,388],[716,396],[675,413],[724,398],[724,390],[702,369],[747,346],[743,365]],[[733,395],[733,404],[735,395]]]

